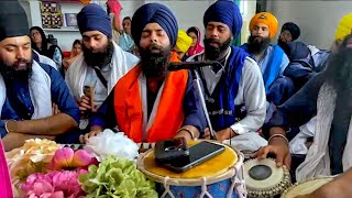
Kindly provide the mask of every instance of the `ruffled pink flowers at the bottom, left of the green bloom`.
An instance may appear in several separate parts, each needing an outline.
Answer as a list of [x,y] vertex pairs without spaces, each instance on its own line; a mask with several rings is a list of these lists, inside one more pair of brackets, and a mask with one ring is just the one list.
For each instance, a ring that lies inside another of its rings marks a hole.
[[22,185],[22,190],[29,198],[80,198],[85,194],[78,183],[78,175],[85,173],[80,169],[32,174]]

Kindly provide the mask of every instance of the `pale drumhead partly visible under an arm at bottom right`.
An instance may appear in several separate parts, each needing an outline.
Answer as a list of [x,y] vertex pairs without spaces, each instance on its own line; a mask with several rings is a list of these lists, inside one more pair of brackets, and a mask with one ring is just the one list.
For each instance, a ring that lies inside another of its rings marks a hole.
[[290,188],[286,189],[282,198],[294,198],[296,196],[310,194],[331,180],[333,180],[333,177],[315,178],[311,180],[297,183]]

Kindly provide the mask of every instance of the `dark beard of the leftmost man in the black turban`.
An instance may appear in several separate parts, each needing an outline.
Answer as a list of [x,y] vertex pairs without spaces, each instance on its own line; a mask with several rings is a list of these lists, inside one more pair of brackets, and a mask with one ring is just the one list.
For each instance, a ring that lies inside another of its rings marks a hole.
[[8,80],[29,80],[32,74],[33,59],[20,59],[12,65],[0,61],[0,74],[6,81]]

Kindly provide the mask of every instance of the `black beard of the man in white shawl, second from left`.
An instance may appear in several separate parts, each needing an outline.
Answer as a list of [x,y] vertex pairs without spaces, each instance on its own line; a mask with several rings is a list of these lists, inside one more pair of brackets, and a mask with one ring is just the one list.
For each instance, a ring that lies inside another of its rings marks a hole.
[[111,62],[112,54],[113,54],[113,44],[109,42],[106,51],[103,53],[94,53],[91,50],[87,48],[85,45],[81,46],[85,62],[88,66],[98,66],[103,67]]

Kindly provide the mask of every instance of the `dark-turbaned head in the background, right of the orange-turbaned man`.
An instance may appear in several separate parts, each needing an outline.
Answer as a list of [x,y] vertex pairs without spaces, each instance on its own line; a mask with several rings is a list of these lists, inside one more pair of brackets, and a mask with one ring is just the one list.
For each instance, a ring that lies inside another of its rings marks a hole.
[[279,33],[277,44],[280,45],[282,43],[294,42],[299,37],[299,26],[293,22],[287,22],[282,28],[282,32]]

